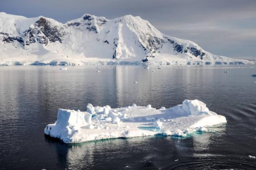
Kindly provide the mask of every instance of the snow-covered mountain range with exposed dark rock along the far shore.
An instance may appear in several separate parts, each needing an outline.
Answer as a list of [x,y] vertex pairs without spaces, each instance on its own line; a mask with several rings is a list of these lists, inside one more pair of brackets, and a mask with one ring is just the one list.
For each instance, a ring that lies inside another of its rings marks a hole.
[[216,56],[140,17],[85,14],[65,24],[0,12],[0,65],[253,64]]

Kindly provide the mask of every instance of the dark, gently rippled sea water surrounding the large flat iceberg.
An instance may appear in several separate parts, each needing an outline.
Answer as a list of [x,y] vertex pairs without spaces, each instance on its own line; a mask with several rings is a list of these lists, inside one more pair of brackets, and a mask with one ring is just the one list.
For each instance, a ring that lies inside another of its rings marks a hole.
[[[248,157],[256,155],[255,65],[213,67],[155,72],[140,66],[0,67],[0,169],[256,169],[256,160]],[[58,108],[86,110],[87,103],[168,108],[184,99],[205,102],[226,116],[227,123],[213,127],[215,133],[187,138],[76,145],[49,139],[43,132],[56,120]]]

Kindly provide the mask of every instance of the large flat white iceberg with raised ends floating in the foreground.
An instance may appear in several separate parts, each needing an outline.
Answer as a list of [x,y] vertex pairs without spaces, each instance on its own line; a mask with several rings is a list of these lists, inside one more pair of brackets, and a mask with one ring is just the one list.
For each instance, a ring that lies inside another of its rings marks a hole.
[[64,143],[82,143],[150,135],[185,137],[194,131],[204,131],[205,126],[220,123],[226,123],[226,118],[209,111],[199,100],[184,100],[168,109],[151,105],[110,108],[88,104],[87,112],[59,109],[57,121],[48,124],[44,133]]

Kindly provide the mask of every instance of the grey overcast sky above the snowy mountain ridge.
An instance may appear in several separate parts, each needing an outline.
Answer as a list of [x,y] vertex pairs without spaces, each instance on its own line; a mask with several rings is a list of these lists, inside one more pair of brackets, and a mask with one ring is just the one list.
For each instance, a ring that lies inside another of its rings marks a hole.
[[213,54],[256,56],[256,0],[0,0],[0,11],[61,23],[85,13],[107,19],[131,14]]

